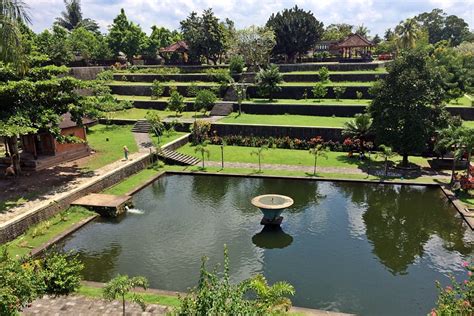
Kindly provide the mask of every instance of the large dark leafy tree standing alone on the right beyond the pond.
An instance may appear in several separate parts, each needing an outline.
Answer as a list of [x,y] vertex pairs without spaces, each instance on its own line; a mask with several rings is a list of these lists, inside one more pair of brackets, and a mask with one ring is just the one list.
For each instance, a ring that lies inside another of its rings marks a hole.
[[420,153],[435,130],[449,122],[448,101],[441,72],[421,50],[407,51],[388,67],[388,75],[374,88],[369,107],[376,141],[392,147],[408,164]]

